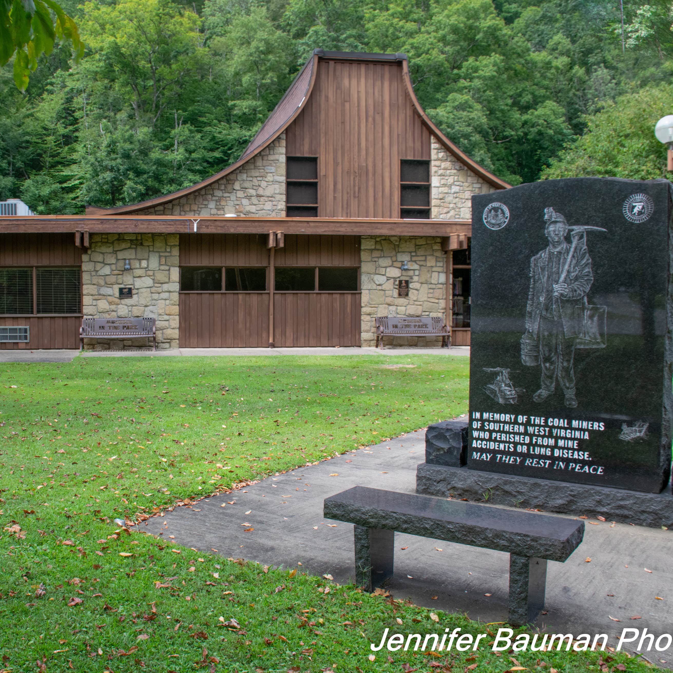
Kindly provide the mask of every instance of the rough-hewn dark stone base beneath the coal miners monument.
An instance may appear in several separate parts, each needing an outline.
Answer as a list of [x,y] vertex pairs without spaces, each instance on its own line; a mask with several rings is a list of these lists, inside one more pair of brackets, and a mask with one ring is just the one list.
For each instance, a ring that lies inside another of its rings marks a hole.
[[421,463],[416,471],[416,492],[590,518],[603,516],[608,521],[650,528],[673,526],[670,484],[662,493],[641,493]]

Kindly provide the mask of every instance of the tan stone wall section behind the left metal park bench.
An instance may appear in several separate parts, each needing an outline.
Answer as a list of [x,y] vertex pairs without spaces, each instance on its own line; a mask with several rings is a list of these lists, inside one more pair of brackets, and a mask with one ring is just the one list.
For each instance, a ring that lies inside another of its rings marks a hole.
[[[84,315],[155,318],[157,349],[178,348],[178,234],[92,234],[90,242],[82,255]],[[120,287],[133,287],[133,297],[119,299]],[[85,349],[97,351],[147,345],[146,338],[84,340]]]

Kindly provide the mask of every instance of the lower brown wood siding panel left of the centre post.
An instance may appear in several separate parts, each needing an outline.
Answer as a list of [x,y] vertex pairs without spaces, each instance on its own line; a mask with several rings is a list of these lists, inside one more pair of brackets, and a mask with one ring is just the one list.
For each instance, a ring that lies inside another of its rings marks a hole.
[[268,345],[268,292],[180,294],[180,347],[258,348]]

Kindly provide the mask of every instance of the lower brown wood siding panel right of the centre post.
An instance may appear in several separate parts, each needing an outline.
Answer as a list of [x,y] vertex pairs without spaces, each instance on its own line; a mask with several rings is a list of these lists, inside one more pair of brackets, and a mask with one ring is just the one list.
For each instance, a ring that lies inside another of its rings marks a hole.
[[359,346],[359,292],[277,292],[276,347]]

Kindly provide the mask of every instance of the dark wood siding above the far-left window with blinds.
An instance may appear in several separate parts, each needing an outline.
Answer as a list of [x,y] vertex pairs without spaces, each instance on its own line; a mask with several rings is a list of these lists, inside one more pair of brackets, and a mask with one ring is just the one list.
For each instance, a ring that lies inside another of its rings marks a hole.
[[75,234],[0,234],[0,267],[79,267]]

